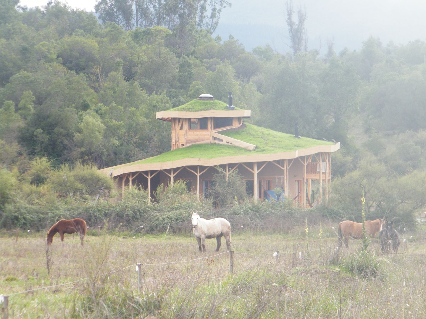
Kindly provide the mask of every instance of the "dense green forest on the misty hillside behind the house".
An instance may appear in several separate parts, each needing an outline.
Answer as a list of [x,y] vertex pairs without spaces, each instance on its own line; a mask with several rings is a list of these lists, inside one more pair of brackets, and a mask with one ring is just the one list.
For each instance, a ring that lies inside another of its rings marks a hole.
[[426,43],[371,37],[320,56],[303,46],[303,12],[296,21],[288,6],[289,52],[249,52],[211,36],[227,6],[101,0],[95,15],[1,1],[0,227],[29,225],[25,210],[102,198],[112,184],[96,168],[170,150],[155,112],[228,91],[256,125],[293,133],[298,122],[299,135],[341,142],[336,214],[359,211],[363,188],[367,216],[412,222],[426,205]]

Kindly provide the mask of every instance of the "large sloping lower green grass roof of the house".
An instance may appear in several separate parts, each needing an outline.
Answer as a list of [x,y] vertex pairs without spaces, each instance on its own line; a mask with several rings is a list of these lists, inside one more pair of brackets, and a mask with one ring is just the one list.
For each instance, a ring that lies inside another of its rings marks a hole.
[[251,124],[246,125],[247,126],[241,130],[225,131],[219,133],[256,145],[256,149],[253,151],[248,151],[245,148],[232,145],[196,144],[184,148],[178,148],[155,157],[141,159],[138,162],[132,162],[120,166],[170,162],[185,158],[212,159],[234,155],[275,154],[296,151],[298,149],[310,148],[317,145],[334,145],[333,142],[315,140],[308,137],[296,138],[292,134],[276,132],[268,128],[262,128]]

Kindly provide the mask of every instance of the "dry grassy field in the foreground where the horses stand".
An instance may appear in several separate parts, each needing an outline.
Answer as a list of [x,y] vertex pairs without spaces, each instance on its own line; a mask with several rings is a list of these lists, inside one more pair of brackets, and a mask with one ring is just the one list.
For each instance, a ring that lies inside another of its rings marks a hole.
[[[78,236],[65,235],[63,243],[55,236],[46,252],[44,233],[23,234],[17,242],[3,234],[0,294],[9,295],[9,317],[426,316],[426,245],[418,236],[389,256],[381,256],[373,239],[368,257],[360,257],[360,241],[355,240],[349,251],[334,253],[332,232],[325,231],[320,238],[317,230],[309,230],[305,240],[303,230],[293,234],[241,231],[231,238],[232,276],[224,239],[214,256],[214,239],[206,240],[207,253],[202,254],[189,234],[139,236],[93,231],[83,248]],[[272,256],[276,250],[278,259]],[[141,292],[136,263],[142,263]],[[67,284],[73,281],[77,282]],[[19,293],[60,284],[67,285]]]

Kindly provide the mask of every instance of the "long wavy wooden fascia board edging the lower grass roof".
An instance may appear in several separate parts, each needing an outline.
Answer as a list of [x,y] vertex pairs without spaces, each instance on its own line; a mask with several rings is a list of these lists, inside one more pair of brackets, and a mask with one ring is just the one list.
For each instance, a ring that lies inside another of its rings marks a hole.
[[[253,155],[236,155],[236,156],[226,156],[226,157],[216,157],[212,159],[204,158],[185,158],[178,159],[176,161],[170,162],[160,162],[160,163],[143,163],[143,164],[134,164],[126,165],[115,168],[112,171],[112,177],[137,171],[157,171],[170,168],[177,168],[183,166],[215,166],[229,163],[247,163],[247,162],[270,162],[278,159],[295,159],[300,156],[316,154],[320,152],[335,152],[340,148],[340,142],[334,145],[317,145],[311,148],[304,148],[302,150],[296,150],[291,152],[281,152],[274,154],[253,154]],[[108,167],[99,170],[104,174],[109,174],[111,168]]]

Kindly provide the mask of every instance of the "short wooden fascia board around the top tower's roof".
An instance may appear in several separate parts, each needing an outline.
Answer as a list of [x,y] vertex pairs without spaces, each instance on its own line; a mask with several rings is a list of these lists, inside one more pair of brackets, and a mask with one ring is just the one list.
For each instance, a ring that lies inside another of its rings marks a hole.
[[161,111],[155,114],[156,119],[163,121],[169,121],[173,117],[183,117],[188,119],[199,119],[202,117],[250,117],[250,110],[233,110],[233,111],[218,111],[218,110],[209,110],[209,111],[197,111],[197,112],[188,112],[188,111]]

